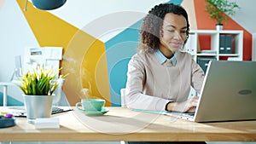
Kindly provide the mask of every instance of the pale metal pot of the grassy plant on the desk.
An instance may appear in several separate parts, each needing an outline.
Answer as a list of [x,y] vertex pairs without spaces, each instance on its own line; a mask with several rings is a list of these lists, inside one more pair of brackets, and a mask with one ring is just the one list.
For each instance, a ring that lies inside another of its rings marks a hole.
[[23,95],[28,123],[36,118],[49,118],[52,110],[53,95]]

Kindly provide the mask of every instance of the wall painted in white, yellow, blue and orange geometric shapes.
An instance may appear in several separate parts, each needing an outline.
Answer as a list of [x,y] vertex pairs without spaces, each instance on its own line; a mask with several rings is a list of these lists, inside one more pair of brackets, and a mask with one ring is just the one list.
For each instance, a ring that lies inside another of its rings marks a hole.
[[[230,2],[238,3],[241,9],[229,16],[224,31],[242,31],[242,60],[256,60],[252,13],[256,2]],[[25,0],[0,0],[0,82],[11,81],[17,55],[22,70],[30,66],[28,49],[61,49],[57,65],[69,76],[62,85],[58,105],[74,106],[84,96],[84,89],[90,89],[92,95],[107,100],[106,106],[120,107],[120,89],[125,88],[127,63],[137,52],[143,17],[159,3],[181,4],[189,14],[190,30],[216,30],[216,22],[204,11],[205,0],[67,0],[55,10],[35,9],[29,1],[26,11]],[[207,47],[199,43],[200,49]],[[3,106],[3,86],[0,89]],[[22,93],[15,85],[8,85],[7,106],[23,106]]]

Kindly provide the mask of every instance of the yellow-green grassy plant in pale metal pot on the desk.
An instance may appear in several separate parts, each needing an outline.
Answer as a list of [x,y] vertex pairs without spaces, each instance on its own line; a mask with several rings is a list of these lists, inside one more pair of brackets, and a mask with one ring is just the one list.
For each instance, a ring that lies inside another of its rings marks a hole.
[[24,93],[28,123],[33,123],[36,118],[50,117],[54,91],[65,78],[58,76],[58,73],[52,68],[37,66],[22,74],[18,87]]

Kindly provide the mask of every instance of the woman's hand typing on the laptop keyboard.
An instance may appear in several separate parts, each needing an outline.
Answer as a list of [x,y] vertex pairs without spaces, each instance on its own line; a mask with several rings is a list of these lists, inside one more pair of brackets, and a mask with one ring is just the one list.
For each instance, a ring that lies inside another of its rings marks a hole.
[[191,99],[183,102],[171,102],[167,105],[167,111],[176,112],[195,112],[198,103],[198,96],[193,96]]

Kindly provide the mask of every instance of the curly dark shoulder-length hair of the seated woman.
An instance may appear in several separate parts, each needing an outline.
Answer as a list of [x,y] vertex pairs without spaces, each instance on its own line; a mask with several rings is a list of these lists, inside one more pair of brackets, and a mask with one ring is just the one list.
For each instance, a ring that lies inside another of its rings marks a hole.
[[163,20],[167,13],[184,16],[187,20],[187,39],[189,38],[189,18],[186,10],[173,3],[160,3],[159,5],[154,6],[153,9],[149,10],[143,20],[143,25],[140,30],[141,43],[138,49],[150,50],[156,49],[159,46],[160,30],[163,26]]

